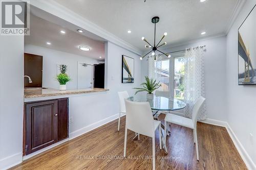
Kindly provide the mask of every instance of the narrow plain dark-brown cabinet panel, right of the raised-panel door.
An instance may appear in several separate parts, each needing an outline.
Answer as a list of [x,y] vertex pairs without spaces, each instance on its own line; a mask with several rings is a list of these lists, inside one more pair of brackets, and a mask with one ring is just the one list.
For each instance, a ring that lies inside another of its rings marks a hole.
[[69,98],[58,99],[58,141],[69,137]]

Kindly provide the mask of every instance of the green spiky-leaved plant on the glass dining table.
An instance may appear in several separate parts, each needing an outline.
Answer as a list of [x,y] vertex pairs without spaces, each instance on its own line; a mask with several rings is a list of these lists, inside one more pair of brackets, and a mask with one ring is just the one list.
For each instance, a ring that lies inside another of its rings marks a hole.
[[147,91],[148,94],[152,94],[153,91],[155,91],[156,89],[161,87],[160,82],[156,82],[157,80],[150,79],[147,76],[145,76],[145,80],[146,80],[146,82],[141,84],[141,86],[143,86],[143,88],[134,88],[134,89],[137,89],[135,94],[137,94],[138,92],[141,92],[141,91]]

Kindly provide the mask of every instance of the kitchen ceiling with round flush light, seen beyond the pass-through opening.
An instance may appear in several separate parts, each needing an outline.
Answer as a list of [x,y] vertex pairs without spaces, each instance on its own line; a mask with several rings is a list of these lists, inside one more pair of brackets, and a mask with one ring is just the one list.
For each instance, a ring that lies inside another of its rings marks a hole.
[[[25,36],[25,44],[33,44],[51,48],[57,51],[67,52],[80,56],[90,57],[97,60],[104,59],[104,41],[95,40],[99,39],[96,36],[94,39],[89,38],[86,33],[78,33],[76,26],[71,26],[70,23],[60,22],[62,25],[57,25],[56,22],[39,18],[33,14],[30,15],[30,35]],[[66,34],[61,34],[63,30]],[[51,42],[51,45],[46,44]],[[91,50],[81,51],[79,45],[90,46]],[[101,58],[99,58],[101,56]]]

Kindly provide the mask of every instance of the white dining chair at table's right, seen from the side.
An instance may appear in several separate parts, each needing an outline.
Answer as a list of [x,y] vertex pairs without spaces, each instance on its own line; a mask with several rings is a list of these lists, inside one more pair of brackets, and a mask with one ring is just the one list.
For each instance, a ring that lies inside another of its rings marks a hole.
[[198,153],[198,141],[197,141],[197,117],[200,112],[203,104],[205,102],[205,98],[202,96],[197,100],[196,104],[193,107],[192,111],[192,119],[178,116],[175,114],[167,114],[164,118],[164,142],[166,144],[166,133],[167,133],[167,123],[173,123],[176,125],[184,126],[190,129],[193,129],[194,134],[194,143],[196,143],[196,151],[197,151],[197,160],[199,160]]

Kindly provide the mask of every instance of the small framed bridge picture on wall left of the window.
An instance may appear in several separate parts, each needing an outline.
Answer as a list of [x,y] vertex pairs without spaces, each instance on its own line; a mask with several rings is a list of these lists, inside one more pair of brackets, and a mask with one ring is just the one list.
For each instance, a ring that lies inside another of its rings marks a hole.
[[134,59],[122,55],[122,83],[134,83]]

